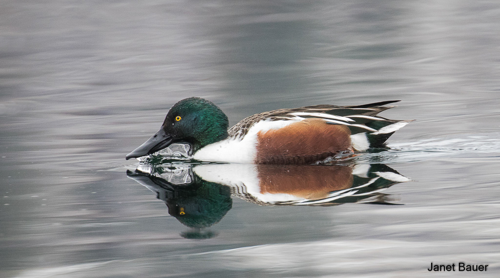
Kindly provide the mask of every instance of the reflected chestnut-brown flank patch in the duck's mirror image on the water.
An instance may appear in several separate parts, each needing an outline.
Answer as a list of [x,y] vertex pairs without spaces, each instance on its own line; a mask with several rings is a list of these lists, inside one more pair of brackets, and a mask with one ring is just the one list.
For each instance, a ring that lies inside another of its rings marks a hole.
[[352,186],[347,165],[257,165],[260,193],[285,193],[310,200]]

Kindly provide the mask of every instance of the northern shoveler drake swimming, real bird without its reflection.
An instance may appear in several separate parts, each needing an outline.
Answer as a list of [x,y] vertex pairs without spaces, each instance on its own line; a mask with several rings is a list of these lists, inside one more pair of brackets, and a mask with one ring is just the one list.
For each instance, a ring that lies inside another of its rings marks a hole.
[[249,164],[311,164],[342,153],[382,148],[409,120],[378,116],[399,100],[355,106],[283,108],[229,121],[214,103],[189,97],[175,103],[161,128],[125,158],[189,143],[192,159]]

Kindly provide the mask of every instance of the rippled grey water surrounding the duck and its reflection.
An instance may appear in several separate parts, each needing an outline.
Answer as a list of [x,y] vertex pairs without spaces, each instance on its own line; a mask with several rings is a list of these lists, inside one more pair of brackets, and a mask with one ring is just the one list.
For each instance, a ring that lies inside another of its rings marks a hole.
[[[10,1],[0,9],[1,277],[497,277],[497,1]],[[401,99],[397,205],[258,205],[205,232],[126,175],[167,108]],[[183,237],[184,236],[184,237]],[[488,264],[431,273],[430,262]]]

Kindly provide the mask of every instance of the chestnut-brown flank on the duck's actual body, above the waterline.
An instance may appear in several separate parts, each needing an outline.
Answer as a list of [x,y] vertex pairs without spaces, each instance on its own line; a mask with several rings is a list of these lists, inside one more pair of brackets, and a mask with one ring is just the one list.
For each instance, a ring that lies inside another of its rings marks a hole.
[[352,151],[349,128],[309,118],[258,132],[255,163],[310,164],[339,151]]

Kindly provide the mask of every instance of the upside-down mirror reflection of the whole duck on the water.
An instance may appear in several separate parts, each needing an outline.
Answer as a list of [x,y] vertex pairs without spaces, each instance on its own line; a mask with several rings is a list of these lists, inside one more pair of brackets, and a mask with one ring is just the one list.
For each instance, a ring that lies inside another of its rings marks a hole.
[[380,191],[409,181],[384,164],[140,164],[127,176],[155,192],[168,213],[191,228],[181,234],[188,238],[216,235],[205,228],[231,209],[231,194],[260,205],[391,204]]

